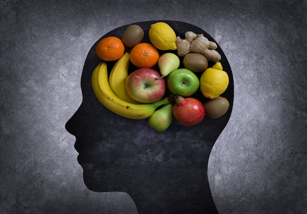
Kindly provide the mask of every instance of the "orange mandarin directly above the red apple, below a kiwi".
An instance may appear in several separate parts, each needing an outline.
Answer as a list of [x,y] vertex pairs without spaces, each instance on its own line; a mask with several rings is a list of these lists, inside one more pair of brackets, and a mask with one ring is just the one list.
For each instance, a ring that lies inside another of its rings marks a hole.
[[159,60],[159,52],[150,43],[138,43],[131,49],[129,58],[139,68],[153,67]]

